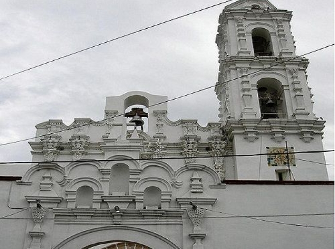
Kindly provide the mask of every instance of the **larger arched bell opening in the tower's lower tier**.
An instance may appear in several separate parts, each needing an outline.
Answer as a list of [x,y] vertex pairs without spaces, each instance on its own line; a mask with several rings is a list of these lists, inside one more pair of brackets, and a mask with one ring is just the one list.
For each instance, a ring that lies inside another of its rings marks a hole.
[[257,82],[259,107],[262,119],[286,118],[286,104],[282,83],[273,78]]

